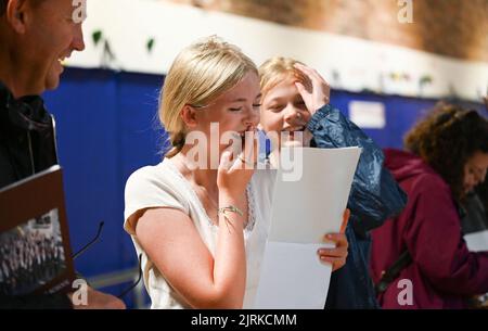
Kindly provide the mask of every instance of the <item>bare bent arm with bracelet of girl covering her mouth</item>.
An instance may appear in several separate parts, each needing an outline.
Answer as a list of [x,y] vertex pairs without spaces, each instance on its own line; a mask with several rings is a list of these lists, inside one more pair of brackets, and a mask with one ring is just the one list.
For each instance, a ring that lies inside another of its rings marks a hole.
[[[229,157],[226,155],[224,157]],[[239,199],[254,170],[219,167],[219,207],[244,209]],[[236,163],[243,163],[235,161]],[[242,308],[246,284],[244,219],[237,213],[219,213],[213,256],[192,219],[182,211],[142,211],[136,235],[165,279],[194,308]]]

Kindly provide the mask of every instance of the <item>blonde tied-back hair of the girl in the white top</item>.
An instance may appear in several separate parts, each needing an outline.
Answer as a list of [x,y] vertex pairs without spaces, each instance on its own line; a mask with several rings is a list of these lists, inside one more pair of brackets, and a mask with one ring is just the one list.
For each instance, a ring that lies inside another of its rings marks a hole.
[[208,105],[249,72],[258,75],[254,62],[217,36],[202,39],[179,53],[159,99],[159,120],[172,145],[166,157],[174,157],[184,147],[187,128],[180,115],[184,105]]

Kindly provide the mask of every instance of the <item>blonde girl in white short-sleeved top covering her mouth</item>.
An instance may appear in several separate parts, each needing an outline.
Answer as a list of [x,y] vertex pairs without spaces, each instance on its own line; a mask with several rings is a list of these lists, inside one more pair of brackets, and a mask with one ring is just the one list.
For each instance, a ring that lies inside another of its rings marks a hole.
[[[252,307],[274,176],[244,169],[255,156],[235,156],[231,143],[211,142],[215,133],[233,132],[241,140],[254,131],[260,94],[255,64],[216,37],[175,60],[159,109],[174,148],[160,164],[132,174],[126,186],[125,229],[143,256],[153,308]],[[198,147],[203,153],[195,157]],[[338,255],[341,266],[347,252],[337,250],[318,253]]]

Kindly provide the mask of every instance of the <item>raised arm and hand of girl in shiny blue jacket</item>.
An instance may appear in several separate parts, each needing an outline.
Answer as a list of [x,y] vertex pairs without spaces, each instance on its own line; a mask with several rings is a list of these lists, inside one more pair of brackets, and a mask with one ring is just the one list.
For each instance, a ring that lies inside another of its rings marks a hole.
[[311,81],[311,89],[299,82],[297,88],[312,114],[307,129],[312,133],[316,147],[362,149],[348,202],[352,227],[357,232],[367,232],[382,226],[387,218],[403,209],[407,194],[383,166],[382,150],[358,126],[330,105],[330,86],[323,77],[304,65],[296,65],[296,68]]

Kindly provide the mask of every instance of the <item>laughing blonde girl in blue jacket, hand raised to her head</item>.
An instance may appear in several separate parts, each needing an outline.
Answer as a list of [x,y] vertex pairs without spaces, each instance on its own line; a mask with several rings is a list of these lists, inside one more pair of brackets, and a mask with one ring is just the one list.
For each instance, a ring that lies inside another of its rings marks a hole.
[[[331,278],[325,307],[377,308],[369,277],[369,231],[401,212],[407,200],[404,193],[383,167],[381,149],[330,104],[331,89],[317,71],[293,59],[273,58],[259,67],[259,74],[260,126],[266,132],[286,131],[290,140],[297,142],[297,137],[304,137],[304,143],[316,148],[362,148],[348,203],[349,255],[346,266]],[[274,142],[278,148],[281,144]]]

